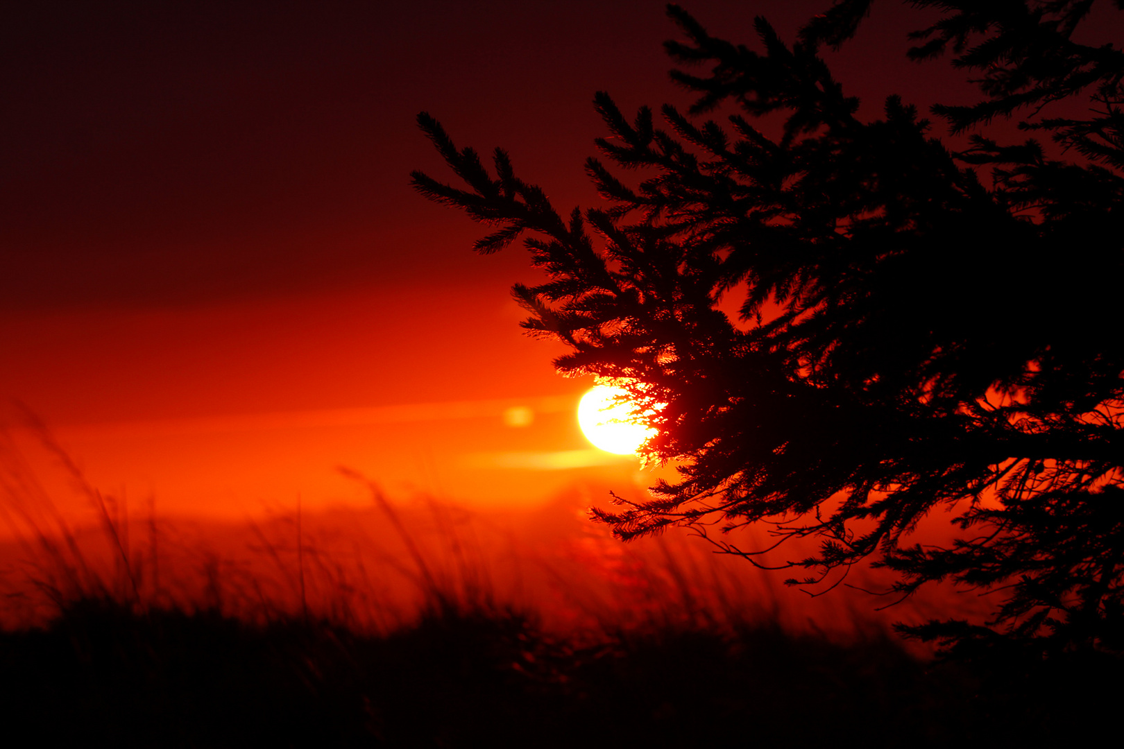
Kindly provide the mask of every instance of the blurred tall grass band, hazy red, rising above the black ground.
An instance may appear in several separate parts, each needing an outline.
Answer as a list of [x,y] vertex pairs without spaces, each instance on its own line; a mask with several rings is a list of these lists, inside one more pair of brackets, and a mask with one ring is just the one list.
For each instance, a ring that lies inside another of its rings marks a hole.
[[[550,544],[537,541],[534,528],[493,527],[488,533],[495,538],[484,540],[478,515],[433,497],[406,511],[350,468],[339,471],[366,490],[373,514],[336,518],[333,526],[324,512],[310,514],[298,496],[294,512],[228,529],[221,546],[211,532],[192,536],[182,522],[158,519],[149,497],[147,542],[136,545],[124,499],[92,486],[40,421],[28,423],[92,510],[100,536],[74,530],[8,439],[0,512],[20,544],[30,588],[56,613],[75,601],[105,599],[137,612],[179,606],[259,622],[296,615],[389,632],[418,616],[520,611],[560,633],[583,630],[586,640],[661,629],[732,636],[762,622],[792,627],[800,618],[768,577],[747,577],[744,565],[733,569],[734,563],[689,538],[622,546],[600,528],[572,524],[571,515],[570,529]],[[547,522],[553,530],[554,521]],[[99,546],[108,558],[91,556]],[[108,569],[99,558],[110,563]],[[28,603],[26,586],[8,588],[9,608]]]

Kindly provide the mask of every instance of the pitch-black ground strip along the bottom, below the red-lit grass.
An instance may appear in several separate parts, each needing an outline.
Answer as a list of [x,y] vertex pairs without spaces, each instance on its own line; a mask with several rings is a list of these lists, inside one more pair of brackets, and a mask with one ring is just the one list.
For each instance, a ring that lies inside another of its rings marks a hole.
[[1070,746],[1118,724],[1114,663],[1024,666],[769,625],[579,645],[438,609],[361,637],[83,600],[0,634],[0,720],[39,746],[145,747]]

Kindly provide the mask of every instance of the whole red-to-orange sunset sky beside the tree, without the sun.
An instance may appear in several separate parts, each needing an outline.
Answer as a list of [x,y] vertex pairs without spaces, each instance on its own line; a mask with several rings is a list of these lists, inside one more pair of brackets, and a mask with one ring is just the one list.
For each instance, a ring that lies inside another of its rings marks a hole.
[[[828,3],[683,4],[749,43],[754,15],[791,39]],[[925,16],[882,4],[833,55],[864,111],[969,99],[905,62]],[[444,175],[427,110],[590,205],[592,94],[686,103],[672,36],[663,3],[616,0],[6,3],[0,396],[96,483],[175,509],[361,495],[337,464],[482,503],[632,482],[578,432],[589,383],[517,328],[524,255],[475,256],[481,229],[408,174]]]

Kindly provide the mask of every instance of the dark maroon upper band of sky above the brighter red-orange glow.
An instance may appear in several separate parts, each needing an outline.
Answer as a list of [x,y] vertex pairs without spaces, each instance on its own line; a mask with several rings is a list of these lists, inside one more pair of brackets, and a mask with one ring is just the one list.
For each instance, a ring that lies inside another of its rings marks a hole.
[[461,252],[472,228],[407,189],[435,165],[414,115],[580,177],[554,159],[596,134],[593,90],[662,83],[661,8],[627,4],[9,4],[0,304],[488,273]]

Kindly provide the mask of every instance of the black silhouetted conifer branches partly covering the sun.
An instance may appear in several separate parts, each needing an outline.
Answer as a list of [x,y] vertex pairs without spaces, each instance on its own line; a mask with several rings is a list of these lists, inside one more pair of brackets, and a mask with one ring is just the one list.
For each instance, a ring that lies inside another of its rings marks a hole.
[[[524,326],[569,344],[563,373],[616,380],[655,411],[646,454],[681,462],[680,478],[595,510],[619,538],[769,521],[779,541],[822,539],[791,563],[807,570],[794,584],[870,556],[900,595],[949,578],[1006,590],[987,625],[914,634],[1122,650],[1124,53],[1075,40],[1091,0],[913,2],[941,17],[909,56],[951,52],[981,74],[980,101],[933,108],[952,133],[1024,117],[1063,158],[979,131],[952,152],[899,97],[859,119],[822,60],[871,4],[839,0],[792,45],[758,18],[762,52],[669,6],[687,40],[668,53],[707,67],[671,76],[698,99],[664,106],[664,127],[596,95],[611,134],[598,148],[642,174],[629,184],[589,158],[601,208],[563,217],[504,150],[492,176],[426,113],[465,186],[420,172],[414,185],[493,225],[481,253],[529,234],[549,280],[515,286]],[[1084,119],[1043,116],[1082,98]],[[722,107],[725,126],[694,117]],[[756,124],[770,115],[773,135]],[[737,319],[718,309],[729,294]],[[910,544],[943,505],[961,538]]]

